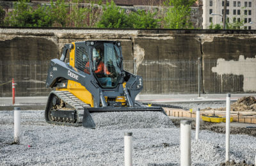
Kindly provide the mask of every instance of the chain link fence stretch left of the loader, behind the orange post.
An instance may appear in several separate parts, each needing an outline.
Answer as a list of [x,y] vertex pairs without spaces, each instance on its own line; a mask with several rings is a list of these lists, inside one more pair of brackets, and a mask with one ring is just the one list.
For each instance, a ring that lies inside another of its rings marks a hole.
[[0,61],[0,97],[12,96],[12,78],[16,96],[48,96],[45,80],[49,61]]

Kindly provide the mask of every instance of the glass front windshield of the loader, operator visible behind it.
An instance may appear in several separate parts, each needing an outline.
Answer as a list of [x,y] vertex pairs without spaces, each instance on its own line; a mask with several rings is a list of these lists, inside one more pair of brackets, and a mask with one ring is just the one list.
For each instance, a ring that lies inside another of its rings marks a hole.
[[97,43],[92,49],[93,73],[102,87],[116,87],[121,72],[120,50],[111,43]]

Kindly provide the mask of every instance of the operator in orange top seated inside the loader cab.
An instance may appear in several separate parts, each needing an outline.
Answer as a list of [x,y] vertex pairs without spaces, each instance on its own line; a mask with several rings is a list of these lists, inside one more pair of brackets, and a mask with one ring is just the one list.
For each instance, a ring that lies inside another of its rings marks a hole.
[[[105,75],[112,76],[113,73],[108,71],[108,68],[105,66],[105,64],[101,61],[99,52],[93,48],[92,52],[93,57],[93,66],[97,68],[94,72],[97,75],[97,78],[100,80],[101,84],[106,84],[107,87],[112,86],[112,79],[110,77],[106,77]],[[86,63],[86,68],[90,67],[90,63]],[[85,72],[85,71],[84,71]]]

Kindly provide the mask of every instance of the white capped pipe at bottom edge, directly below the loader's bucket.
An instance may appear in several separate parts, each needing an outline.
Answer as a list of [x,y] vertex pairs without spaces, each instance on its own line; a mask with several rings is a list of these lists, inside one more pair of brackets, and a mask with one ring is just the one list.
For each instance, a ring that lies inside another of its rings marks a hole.
[[124,133],[124,165],[132,166],[132,133]]

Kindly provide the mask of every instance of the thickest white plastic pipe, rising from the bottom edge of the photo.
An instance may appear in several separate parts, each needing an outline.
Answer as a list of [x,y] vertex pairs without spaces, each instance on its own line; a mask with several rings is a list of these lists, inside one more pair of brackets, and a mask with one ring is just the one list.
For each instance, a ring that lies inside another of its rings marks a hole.
[[191,165],[191,121],[180,121],[180,166]]

